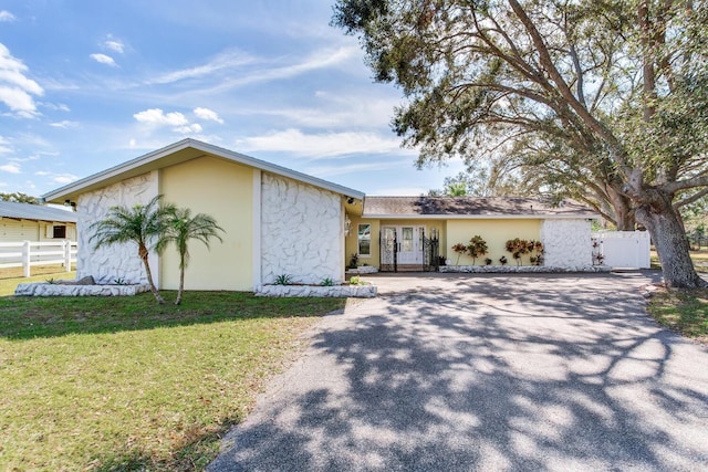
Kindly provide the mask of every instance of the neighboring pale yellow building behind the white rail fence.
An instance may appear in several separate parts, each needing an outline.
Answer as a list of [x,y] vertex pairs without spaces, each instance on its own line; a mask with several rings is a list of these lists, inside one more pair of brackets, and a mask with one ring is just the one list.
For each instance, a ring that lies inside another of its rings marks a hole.
[[76,241],[76,213],[31,203],[0,201],[0,242]]

